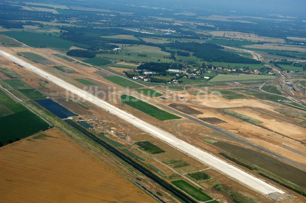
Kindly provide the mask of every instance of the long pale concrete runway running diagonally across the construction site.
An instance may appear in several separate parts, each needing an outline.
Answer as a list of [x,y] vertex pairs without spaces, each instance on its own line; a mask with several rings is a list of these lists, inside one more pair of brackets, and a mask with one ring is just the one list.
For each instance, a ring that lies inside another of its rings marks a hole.
[[36,73],[37,75],[47,78],[51,82],[57,84],[59,87],[62,87],[81,98],[85,99],[86,101],[89,101],[100,108],[108,111],[109,113],[118,116],[122,120],[126,121],[129,124],[134,125],[135,127],[138,127],[140,130],[149,133],[150,135],[161,139],[162,141],[168,143],[171,146],[176,147],[177,149],[189,154],[190,156],[196,158],[197,160],[201,161],[204,164],[207,164],[211,166],[212,168],[215,168],[219,172],[222,172],[223,174],[228,175],[232,179],[262,193],[262,194],[269,194],[274,192],[279,192],[281,194],[284,194],[285,192],[282,190],[279,190],[278,188],[252,176],[251,174],[248,174],[244,171],[242,171],[239,168],[236,168],[235,166],[219,159],[218,157],[215,157],[201,149],[196,148],[195,146],[192,146],[188,144],[187,142],[184,142],[176,137],[174,135],[171,135],[170,133],[161,130],[158,127],[155,127],[151,124],[146,123],[143,120],[140,120],[139,118],[133,116],[130,113],[127,113],[121,109],[118,109],[117,107],[114,107],[113,105],[107,103],[106,101],[103,101],[102,99],[95,97],[94,95],[86,92],[85,90],[82,90],[70,83],[67,83],[66,81],[53,76],[17,57],[14,57],[11,54],[6,53],[3,50],[0,50],[0,54],[9,59],[10,61],[15,61],[21,65],[23,65],[28,70]]

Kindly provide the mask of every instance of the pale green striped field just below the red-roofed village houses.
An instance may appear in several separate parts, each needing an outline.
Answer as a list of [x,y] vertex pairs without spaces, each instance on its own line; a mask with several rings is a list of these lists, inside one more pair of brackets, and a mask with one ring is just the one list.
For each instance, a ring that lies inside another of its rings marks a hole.
[[224,75],[218,74],[209,82],[223,82],[223,81],[241,81],[241,80],[264,80],[264,79],[275,79],[275,76],[264,76],[264,75],[254,75],[254,74],[239,74],[237,75]]

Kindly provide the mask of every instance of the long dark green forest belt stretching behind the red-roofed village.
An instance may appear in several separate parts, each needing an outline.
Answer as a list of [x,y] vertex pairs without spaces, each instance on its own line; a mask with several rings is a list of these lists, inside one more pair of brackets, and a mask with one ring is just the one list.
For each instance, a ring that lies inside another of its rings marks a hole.
[[[119,35],[119,34],[131,34],[131,31],[126,31],[118,28],[110,29],[93,29],[93,28],[62,28],[68,32],[63,32],[60,36],[63,39],[76,42],[76,46],[81,48],[90,48],[95,47],[104,50],[110,50],[118,46],[110,43],[123,43],[123,44],[144,44],[148,46],[158,46],[162,51],[170,53],[170,57],[174,61],[176,60],[175,54],[179,56],[190,56],[189,52],[194,52],[193,55],[196,57],[202,58],[205,61],[216,61],[216,62],[226,62],[226,63],[241,63],[241,64],[260,64],[260,61],[254,59],[249,59],[241,57],[237,54],[231,54],[223,51],[222,46],[218,46],[211,43],[182,43],[182,42],[172,42],[172,43],[163,43],[163,44],[154,44],[147,43],[143,40],[130,40],[130,39],[111,39],[111,38],[101,38],[101,35]],[[142,36],[143,33],[133,32],[133,35]],[[148,35],[148,34],[145,34]],[[180,50],[186,51],[173,51],[167,50],[166,47],[172,47]],[[145,57],[145,54],[139,54],[140,57]],[[166,56],[165,56],[166,57]]]

